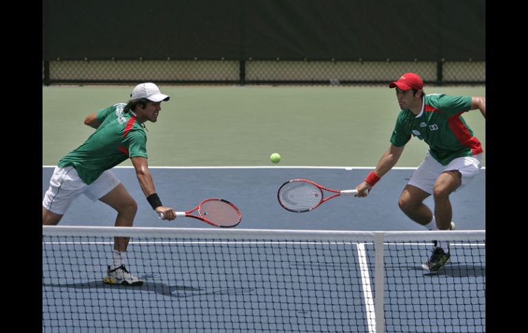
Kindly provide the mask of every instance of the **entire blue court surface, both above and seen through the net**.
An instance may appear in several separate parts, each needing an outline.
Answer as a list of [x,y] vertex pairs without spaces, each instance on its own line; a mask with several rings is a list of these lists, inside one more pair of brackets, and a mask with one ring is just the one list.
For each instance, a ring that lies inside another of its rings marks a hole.
[[[51,170],[43,168],[43,194]],[[132,236],[128,267],[145,280],[141,287],[102,283],[111,233],[43,238],[43,332],[376,332],[374,238],[317,230],[422,230],[396,203],[412,169],[392,170],[368,198],[335,198],[309,213],[285,211],[276,200],[292,178],[353,188],[369,171],[152,169],[165,205],[184,210],[218,196],[241,209],[238,227],[216,229],[159,220],[141,200],[134,170],[115,168],[138,201],[136,227],[170,229]],[[457,230],[485,229],[484,188],[481,170],[452,196]],[[74,205],[60,226],[113,225],[115,213],[102,203],[82,197]],[[457,234],[464,232],[453,231],[452,260],[437,274],[421,268],[429,240],[385,240],[385,332],[485,332],[485,236],[466,240]]]

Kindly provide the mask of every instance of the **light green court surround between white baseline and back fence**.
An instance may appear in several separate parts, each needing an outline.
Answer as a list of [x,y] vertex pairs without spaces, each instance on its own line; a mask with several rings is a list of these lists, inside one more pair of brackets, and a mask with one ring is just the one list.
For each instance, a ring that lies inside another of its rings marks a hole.
[[[127,102],[132,86],[43,87],[43,165],[58,160],[93,131],[86,115]],[[178,87],[156,124],[147,124],[149,165],[374,166],[389,146],[398,115],[387,87]],[[485,95],[485,87],[424,87],[426,93]],[[485,119],[464,119],[485,152]],[[416,167],[427,144],[413,138],[396,166]],[[485,154],[483,156],[485,165]],[[122,165],[131,165],[126,161]]]

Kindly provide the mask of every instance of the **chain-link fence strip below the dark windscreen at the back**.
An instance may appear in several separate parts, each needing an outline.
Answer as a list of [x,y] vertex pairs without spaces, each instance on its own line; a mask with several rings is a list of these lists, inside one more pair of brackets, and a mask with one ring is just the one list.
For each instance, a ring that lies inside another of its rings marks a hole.
[[485,61],[53,60],[43,84],[385,84],[413,71],[429,84],[485,84]]

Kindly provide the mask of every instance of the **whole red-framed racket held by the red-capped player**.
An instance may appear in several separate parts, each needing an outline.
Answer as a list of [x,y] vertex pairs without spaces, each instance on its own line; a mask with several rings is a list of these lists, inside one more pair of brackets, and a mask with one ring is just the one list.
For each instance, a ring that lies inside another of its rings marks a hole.
[[[324,198],[324,192],[337,193]],[[278,203],[284,209],[294,213],[311,211],[319,207],[322,203],[335,198],[336,196],[352,196],[357,194],[357,190],[331,190],[307,179],[291,179],[281,185],[277,192]]]

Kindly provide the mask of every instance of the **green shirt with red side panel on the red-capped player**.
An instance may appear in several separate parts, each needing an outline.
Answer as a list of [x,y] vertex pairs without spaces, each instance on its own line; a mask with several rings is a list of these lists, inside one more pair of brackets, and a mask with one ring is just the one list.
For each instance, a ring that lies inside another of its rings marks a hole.
[[458,157],[480,154],[481,143],[461,116],[470,108],[471,96],[425,95],[420,114],[414,115],[408,109],[400,111],[390,141],[401,147],[411,136],[418,137],[429,145],[431,156],[442,165]]

